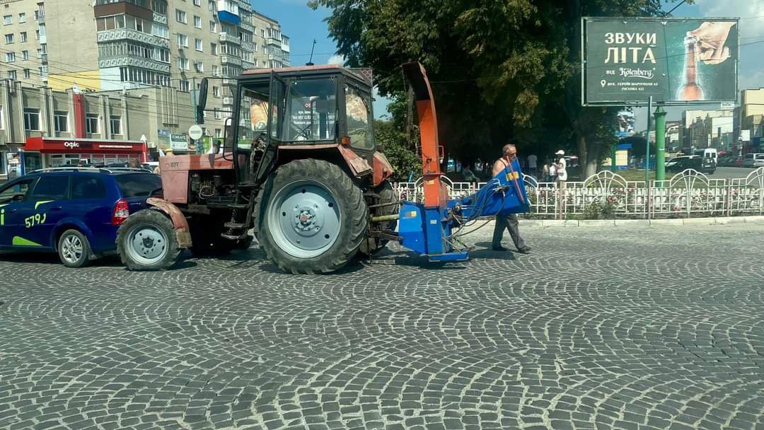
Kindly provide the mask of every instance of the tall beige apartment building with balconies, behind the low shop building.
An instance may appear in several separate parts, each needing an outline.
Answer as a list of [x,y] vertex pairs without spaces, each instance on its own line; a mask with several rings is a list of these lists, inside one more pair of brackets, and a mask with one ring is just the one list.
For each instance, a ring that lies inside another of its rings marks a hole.
[[189,105],[202,77],[215,78],[213,137],[244,69],[290,64],[289,37],[248,0],[2,0],[0,15],[3,78],[60,91],[169,87]]

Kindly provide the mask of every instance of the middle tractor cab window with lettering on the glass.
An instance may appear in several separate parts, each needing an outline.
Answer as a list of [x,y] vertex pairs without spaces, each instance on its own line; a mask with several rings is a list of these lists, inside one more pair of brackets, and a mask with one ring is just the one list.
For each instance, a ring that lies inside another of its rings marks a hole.
[[333,141],[337,120],[335,79],[293,81],[287,112],[289,127],[284,141]]

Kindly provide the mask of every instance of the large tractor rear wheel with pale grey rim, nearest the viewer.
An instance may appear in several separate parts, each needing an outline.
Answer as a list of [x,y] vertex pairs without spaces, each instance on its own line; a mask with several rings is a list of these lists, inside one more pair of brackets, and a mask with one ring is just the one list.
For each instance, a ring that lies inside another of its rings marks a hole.
[[356,254],[368,226],[364,193],[336,164],[294,160],[268,178],[257,241],[281,270],[329,273]]

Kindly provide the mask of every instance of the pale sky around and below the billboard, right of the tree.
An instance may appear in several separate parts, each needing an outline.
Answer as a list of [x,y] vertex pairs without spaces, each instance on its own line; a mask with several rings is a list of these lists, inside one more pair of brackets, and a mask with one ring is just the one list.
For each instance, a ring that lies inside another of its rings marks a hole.
[[[673,6],[670,4],[664,7],[667,11],[671,8]],[[743,90],[764,87],[764,0],[695,0],[694,5],[679,6],[672,15],[675,17],[740,18],[738,88]],[[683,111],[685,108],[682,107],[666,108],[666,112],[669,112],[666,119],[680,120]],[[634,109],[636,131],[647,128],[646,112],[646,108]]]

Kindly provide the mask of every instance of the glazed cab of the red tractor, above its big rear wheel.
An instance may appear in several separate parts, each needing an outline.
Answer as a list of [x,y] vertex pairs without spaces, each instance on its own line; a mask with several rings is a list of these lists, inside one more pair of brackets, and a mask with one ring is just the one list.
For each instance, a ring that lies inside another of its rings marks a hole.
[[371,92],[371,70],[306,66],[244,72],[225,136],[238,185],[263,183],[278,158],[296,151],[309,150],[315,157],[316,150],[345,146],[371,163]]

